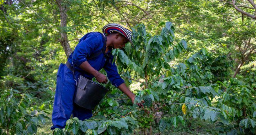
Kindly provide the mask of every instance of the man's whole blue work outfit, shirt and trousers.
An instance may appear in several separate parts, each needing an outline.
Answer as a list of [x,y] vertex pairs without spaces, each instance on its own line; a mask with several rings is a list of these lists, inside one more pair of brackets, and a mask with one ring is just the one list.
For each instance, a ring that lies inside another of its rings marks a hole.
[[[75,77],[78,78],[82,75],[88,79],[94,76],[86,73],[79,66],[86,61],[87,57],[91,54],[96,54],[102,47],[104,39],[100,33],[88,33],[83,36],[78,45],[75,47],[73,54],[68,58],[70,64],[75,64]],[[106,48],[106,47],[105,47]],[[105,50],[105,49],[104,49]],[[111,51],[109,60],[104,57],[104,54],[98,55],[96,58],[88,60],[88,63],[97,71],[102,68],[107,72],[107,77],[110,82],[118,87],[124,83],[117,71],[117,67],[113,61]],[[52,113],[52,130],[55,128],[65,128],[66,121],[70,118],[71,114],[78,117],[80,120],[85,120],[92,117],[92,112],[85,108],[73,104],[73,96],[76,89],[76,82],[73,78],[73,73],[65,64],[60,64],[57,72],[57,86],[54,98],[53,113]]]

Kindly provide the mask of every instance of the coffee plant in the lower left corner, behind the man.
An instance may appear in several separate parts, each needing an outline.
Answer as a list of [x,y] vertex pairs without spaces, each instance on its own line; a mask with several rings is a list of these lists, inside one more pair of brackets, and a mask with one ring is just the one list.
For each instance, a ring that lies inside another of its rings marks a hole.
[[21,94],[15,89],[0,89],[0,134],[31,135],[37,127],[44,124],[45,112],[30,108],[33,98],[30,94]]

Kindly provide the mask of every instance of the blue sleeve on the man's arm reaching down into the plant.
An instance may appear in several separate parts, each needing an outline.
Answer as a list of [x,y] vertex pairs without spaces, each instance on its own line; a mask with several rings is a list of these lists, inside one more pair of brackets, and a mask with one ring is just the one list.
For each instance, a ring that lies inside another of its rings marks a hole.
[[[113,59],[111,61],[113,61]],[[110,63],[107,62],[104,65],[103,69],[105,69],[105,71],[107,72],[108,80],[110,80],[110,82],[112,83],[113,86],[118,87],[119,85],[124,83],[124,80],[118,74],[117,66],[115,65],[114,62],[113,63],[112,62],[110,62]]]

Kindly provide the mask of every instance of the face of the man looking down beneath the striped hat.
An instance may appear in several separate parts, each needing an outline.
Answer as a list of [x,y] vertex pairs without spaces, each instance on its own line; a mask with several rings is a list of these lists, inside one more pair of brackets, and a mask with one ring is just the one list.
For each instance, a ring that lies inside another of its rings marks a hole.
[[123,35],[117,33],[114,35],[114,40],[113,40],[113,47],[114,49],[122,49],[125,47],[126,43],[128,42],[128,39],[124,37]]

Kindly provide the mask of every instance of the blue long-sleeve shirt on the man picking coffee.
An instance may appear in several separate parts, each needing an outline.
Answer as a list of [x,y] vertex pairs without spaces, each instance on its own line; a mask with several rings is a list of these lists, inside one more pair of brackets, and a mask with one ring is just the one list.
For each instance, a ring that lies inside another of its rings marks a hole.
[[[74,49],[74,52],[68,58],[69,63],[71,65],[75,65],[76,78],[78,78],[79,75],[82,75],[92,80],[94,76],[85,72],[79,66],[87,60],[87,57],[101,51],[103,45],[104,39],[100,33],[88,33],[80,39],[78,45]],[[100,71],[102,68],[105,69],[105,71],[107,72],[108,80],[110,80],[112,85],[118,87],[120,84],[124,83],[124,81],[118,74],[115,63],[112,62],[113,55],[111,51],[108,51],[107,53],[108,55],[110,55],[109,60],[107,60],[104,57],[104,54],[101,53],[96,58],[89,59],[87,61],[97,71]]]

